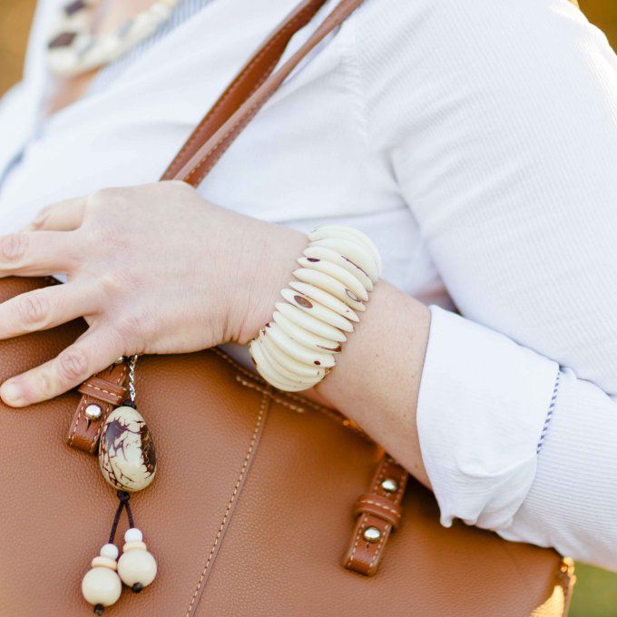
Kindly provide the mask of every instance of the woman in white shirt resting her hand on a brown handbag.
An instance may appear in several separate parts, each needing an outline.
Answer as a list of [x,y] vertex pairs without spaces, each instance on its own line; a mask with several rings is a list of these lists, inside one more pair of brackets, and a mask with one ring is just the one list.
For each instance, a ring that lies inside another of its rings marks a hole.
[[[109,2],[97,27],[149,4]],[[187,0],[68,78],[45,57],[59,4],[41,4],[0,112],[0,263],[68,283],[5,302],[0,336],[90,329],[0,395],[28,406],[121,355],[246,346],[304,233],[351,225],[387,282],[310,396],[430,485],[443,524],[617,568],[612,50],[567,0],[367,0],[199,191],[152,184],[295,4]]]

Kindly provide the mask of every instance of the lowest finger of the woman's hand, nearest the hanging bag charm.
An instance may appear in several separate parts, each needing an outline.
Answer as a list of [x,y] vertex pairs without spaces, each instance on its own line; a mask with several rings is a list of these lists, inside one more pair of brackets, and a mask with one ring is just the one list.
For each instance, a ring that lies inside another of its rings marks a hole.
[[14,407],[57,397],[109,367],[123,353],[122,340],[112,330],[90,328],[58,357],[5,381],[0,397]]

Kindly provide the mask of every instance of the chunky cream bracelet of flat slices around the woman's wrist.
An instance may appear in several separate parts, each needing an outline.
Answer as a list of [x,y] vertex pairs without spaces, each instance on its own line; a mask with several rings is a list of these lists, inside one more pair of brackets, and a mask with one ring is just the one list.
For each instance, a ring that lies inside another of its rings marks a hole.
[[296,280],[280,292],[285,301],[249,344],[260,376],[288,392],[308,390],[328,375],[381,274],[377,247],[351,227],[311,231],[303,255]]

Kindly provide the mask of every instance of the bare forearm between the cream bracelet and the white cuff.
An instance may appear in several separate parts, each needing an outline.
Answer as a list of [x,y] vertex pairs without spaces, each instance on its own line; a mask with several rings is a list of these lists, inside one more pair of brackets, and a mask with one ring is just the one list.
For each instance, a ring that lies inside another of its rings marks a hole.
[[355,421],[428,485],[416,428],[416,403],[430,313],[381,281],[318,396]]

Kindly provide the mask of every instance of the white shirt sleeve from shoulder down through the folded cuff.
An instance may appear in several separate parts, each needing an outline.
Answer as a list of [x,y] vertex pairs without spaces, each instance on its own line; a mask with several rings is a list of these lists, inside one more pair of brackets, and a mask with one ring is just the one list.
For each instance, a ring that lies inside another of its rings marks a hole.
[[432,309],[417,409],[442,521],[617,569],[615,54],[567,0],[373,2],[357,42],[463,315]]

